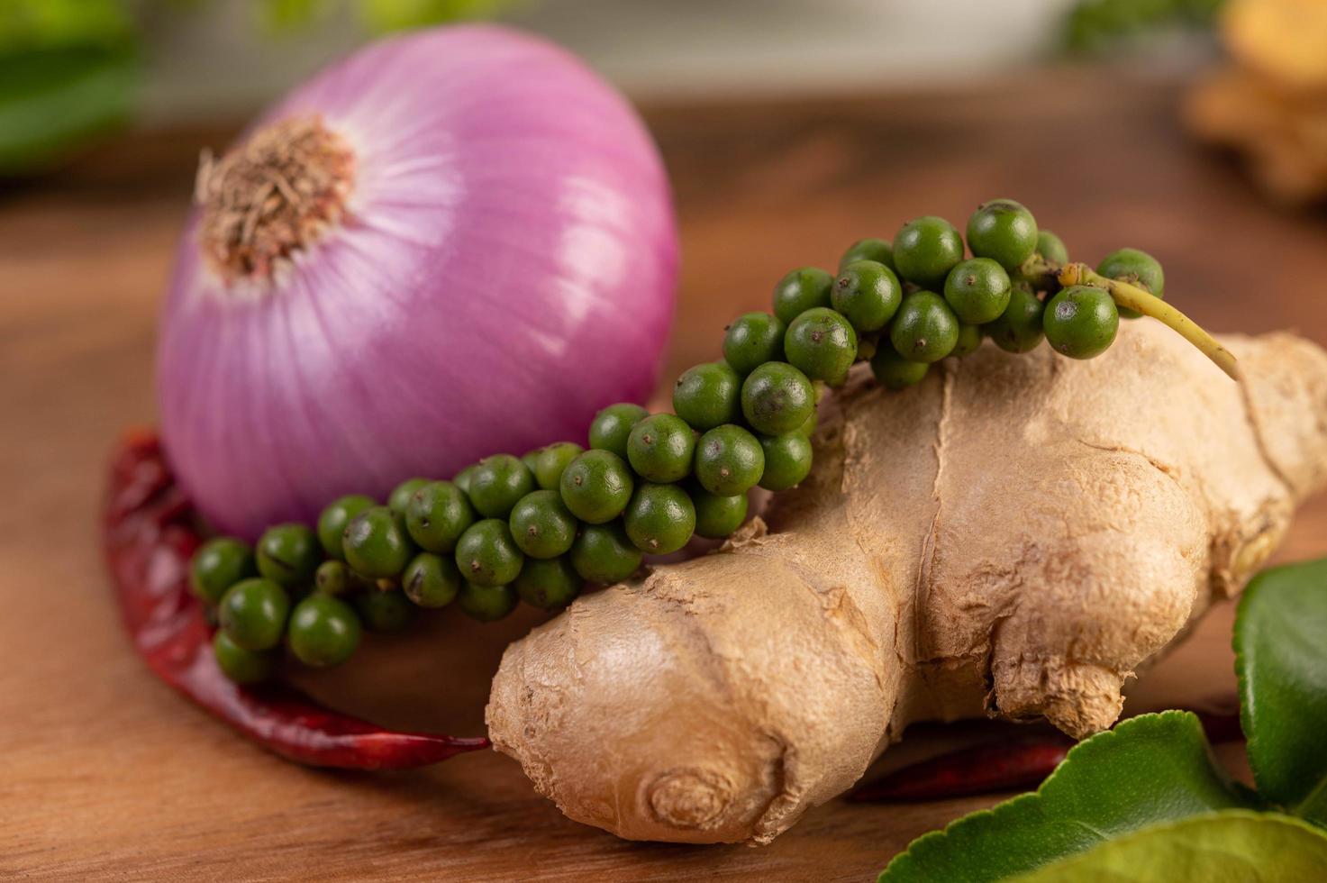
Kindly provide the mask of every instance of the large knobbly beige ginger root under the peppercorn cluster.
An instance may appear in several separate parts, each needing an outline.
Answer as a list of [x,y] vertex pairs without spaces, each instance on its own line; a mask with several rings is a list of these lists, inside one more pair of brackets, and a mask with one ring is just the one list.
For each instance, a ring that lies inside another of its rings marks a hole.
[[491,738],[580,822],[766,843],[912,721],[1111,726],[1327,474],[1327,353],[1225,343],[1241,384],[1148,321],[1091,361],[987,344],[905,393],[852,382],[768,531],[512,644]]

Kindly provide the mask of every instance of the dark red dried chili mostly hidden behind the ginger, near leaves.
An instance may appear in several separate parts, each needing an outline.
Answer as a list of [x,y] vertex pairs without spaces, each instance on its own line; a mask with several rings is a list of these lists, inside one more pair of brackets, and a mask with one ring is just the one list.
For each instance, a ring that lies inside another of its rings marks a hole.
[[[1238,714],[1200,712],[1198,720],[1213,744],[1242,738]],[[848,799],[855,803],[941,801],[1030,789],[1040,785],[1071,748],[1074,740],[1063,733],[962,748],[886,773],[856,787]]]

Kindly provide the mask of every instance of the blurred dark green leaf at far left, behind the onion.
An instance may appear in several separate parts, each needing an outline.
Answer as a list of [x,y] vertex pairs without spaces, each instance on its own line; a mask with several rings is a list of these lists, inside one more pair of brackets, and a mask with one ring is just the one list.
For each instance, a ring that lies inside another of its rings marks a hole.
[[0,175],[52,169],[127,120],[138,85],[131,48],[5,53],[0,64]]

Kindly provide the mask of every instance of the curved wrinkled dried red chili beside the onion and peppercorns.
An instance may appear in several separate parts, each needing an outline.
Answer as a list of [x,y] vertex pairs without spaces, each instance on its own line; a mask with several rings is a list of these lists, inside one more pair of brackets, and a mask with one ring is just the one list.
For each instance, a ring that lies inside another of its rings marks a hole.
[[277,684],[239,686],[216,667],[203,604],[188,591],[200,540],[194,507],[151,432],[115,451],[104,515],[106,560],[134,647],[176,690],[281,757],[311,766],[406,769],[488,746],[483,737],[398,733]]

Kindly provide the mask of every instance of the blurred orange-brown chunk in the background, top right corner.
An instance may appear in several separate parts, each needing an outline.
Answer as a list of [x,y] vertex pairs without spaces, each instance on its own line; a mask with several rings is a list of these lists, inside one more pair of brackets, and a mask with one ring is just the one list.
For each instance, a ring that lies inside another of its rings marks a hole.
[[1275,199],[1327,198],[1327,0],[1231,0],[1221,32],[1234,64],[1189,96],[1189,127]]

